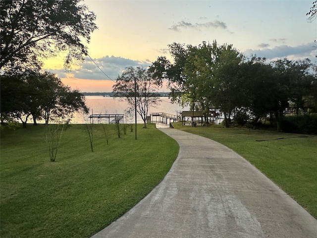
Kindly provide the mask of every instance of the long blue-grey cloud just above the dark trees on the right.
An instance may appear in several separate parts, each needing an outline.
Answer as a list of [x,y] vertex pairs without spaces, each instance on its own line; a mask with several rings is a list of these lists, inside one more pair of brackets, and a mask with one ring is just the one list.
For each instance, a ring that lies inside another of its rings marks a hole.
[[246,55],[257,55],[258,57],[265,57],[268,60],[276,58],[292,58],[292,59],[313,59],[317,54],[317,46],[314,43],[308,43],[300,46],[276,46],[272,49],[252,50],[248,49],[244,52]]

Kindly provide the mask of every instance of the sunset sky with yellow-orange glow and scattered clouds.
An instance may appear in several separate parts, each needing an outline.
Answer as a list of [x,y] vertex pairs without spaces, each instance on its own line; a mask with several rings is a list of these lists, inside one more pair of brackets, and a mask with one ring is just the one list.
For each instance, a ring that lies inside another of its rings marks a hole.
[[171,60],[169,44],[214,40],[247,57],[309,58],[317,64],[317,19],[306,16],[313,1],[84,0],[98,26],[86,44],[89,56],[71,71],[63,68],[62,55],[46,60],[43,68],[81,92],[111,92],[126,67],[147,67],[160,56]]

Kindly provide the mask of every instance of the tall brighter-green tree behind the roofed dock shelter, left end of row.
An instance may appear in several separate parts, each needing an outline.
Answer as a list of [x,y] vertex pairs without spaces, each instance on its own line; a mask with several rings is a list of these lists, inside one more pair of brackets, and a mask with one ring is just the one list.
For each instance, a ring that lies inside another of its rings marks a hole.
[[[211,107],[225,113],[226,125],[236,107],[239,64],[242,55],[231,45],[212,44],[199,46],[173,43],[169,45],[174,64],[158,58],[150,70],[158,78],[168,79],[171,98],[191,110],[202,110],[208,118]],[[226,84],[226,85],[225,85]]]

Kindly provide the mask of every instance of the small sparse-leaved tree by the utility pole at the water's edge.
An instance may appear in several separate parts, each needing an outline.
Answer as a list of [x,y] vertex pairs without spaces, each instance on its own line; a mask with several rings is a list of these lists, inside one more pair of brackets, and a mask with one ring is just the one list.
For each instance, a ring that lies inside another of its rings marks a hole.
[[147,69],[143,67],[127,67],[121,76],[118,76],[113,85],[114,97],[121,97],[129,106],[130,111],[134,111],[136,97],[136,111],[141,116],[144,127],[151,106],[160,102],[156,94],[160,86],[159,80],[152,77]]

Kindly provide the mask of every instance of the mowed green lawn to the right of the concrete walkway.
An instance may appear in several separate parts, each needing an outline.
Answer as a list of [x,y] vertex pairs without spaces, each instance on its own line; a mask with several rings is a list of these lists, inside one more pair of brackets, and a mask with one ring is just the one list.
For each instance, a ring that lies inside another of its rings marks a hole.
[[[317,218],[317,136],[217,125],[173,125],[231,148]],[[277,139],[281,137],[284,139]]]

